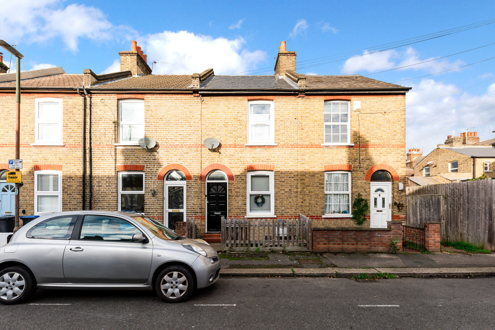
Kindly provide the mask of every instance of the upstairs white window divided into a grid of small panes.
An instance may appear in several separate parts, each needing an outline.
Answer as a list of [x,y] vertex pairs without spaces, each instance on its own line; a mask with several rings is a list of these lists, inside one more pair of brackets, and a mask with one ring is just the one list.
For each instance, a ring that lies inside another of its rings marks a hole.
[[349,102],[326,101],[323,108],[325,144],[350,143]]

